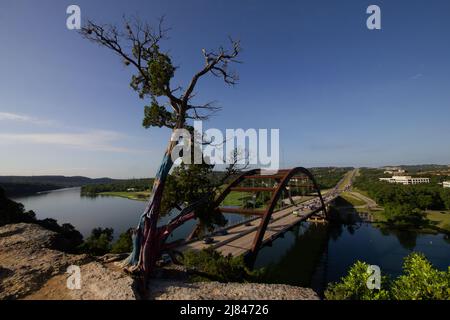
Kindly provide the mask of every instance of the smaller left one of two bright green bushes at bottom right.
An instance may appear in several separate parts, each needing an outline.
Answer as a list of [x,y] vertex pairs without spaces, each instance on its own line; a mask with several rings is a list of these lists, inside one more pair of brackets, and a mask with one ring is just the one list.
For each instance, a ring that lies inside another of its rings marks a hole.
[[[383,289],[387,282],[382,278],[380,290],[370,290],[367,288],[367,280],[370,273],[367,271],[369,265],[365,262],[357,261],[348,271],[348,274],[339,283],[332,283],[325,291],[325,298],[328,300],[385,300],[388,299],[388,292]],[[383,281],[384,280],[384,281]]]

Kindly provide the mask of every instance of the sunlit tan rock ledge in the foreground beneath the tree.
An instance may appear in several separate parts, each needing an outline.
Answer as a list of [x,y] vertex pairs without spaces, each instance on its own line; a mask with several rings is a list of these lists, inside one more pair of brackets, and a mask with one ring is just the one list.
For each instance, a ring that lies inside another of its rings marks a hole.
[[[0,227],[0,299],[138,299],[134,280],[108,259],[67,254],[57,233],[36,224]],[[108,257],[109,258],[109,257]],[[81,289],[68,289],[70,265],[80,267]],[[165,272],[160,273],[167,274]],[[306,288],[277,284],[198,282],[159,276],[151,280],[150,298],[316,300]]]

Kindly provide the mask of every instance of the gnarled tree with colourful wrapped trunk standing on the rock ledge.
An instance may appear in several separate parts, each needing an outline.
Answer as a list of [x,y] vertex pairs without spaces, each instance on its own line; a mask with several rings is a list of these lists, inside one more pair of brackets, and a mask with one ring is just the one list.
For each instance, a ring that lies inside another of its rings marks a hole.
[[[212,74],[229,85],[236,84],[238,76],[229,66],[241,51],[239,41],[230,39],[230,47],[217,50],[202,49],[204,64],[195,73],[185,88],[172,87],[171,80],[176,71],[168,52],[160,48],[167,39],[168,29],[160,19],[156,28],[139,19],[132,21],[124,18],[123,27],[100,25],[92,21],[81,29],[82,36],[94,43],[110,49],[118,55],[125,65],[133,67],[135,74],[131,78],[131,87],[141,99],[148,99],[144,107],[143,125],[150,127],[167,127],[174,132],[185,128],[189,120],[206,120],[219,110],[213,103],[203,105],[192,103],[194,90],[199,80]],[[160,216],[161,199],[164,184],[173,166],[171,153],[176,141],[169,140],[161,165],[156,174],[151,195],[145,211],[139,221],[134,235],[133,253],[126,263],[131,270],[141,270],[144,275],[151,272],[159,257],[159,243],[156,228]]]

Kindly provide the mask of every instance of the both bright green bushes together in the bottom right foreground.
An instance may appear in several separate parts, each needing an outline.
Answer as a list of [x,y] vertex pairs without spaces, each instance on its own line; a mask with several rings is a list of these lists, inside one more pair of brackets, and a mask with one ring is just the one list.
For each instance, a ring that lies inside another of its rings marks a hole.
[[405,258],[403,275],[387,281],[382,276],[381,290],[366,286],[368,264],[356,262],[338,283],[329,284],[325,297],[329,300],[448,300],[450,299],[450,267],[439,271],[421,253]]

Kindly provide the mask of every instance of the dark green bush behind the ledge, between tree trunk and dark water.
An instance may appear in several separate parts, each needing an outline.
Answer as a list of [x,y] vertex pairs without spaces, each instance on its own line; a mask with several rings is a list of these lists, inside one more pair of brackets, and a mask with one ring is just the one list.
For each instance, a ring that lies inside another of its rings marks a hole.
[[211,248],[186,252],[183,264],[197,271],[197,275],[193,277],[195,281],[244,282],[258,277],[257,271],[250,271],[246,267],[242,256],[223,256]]

